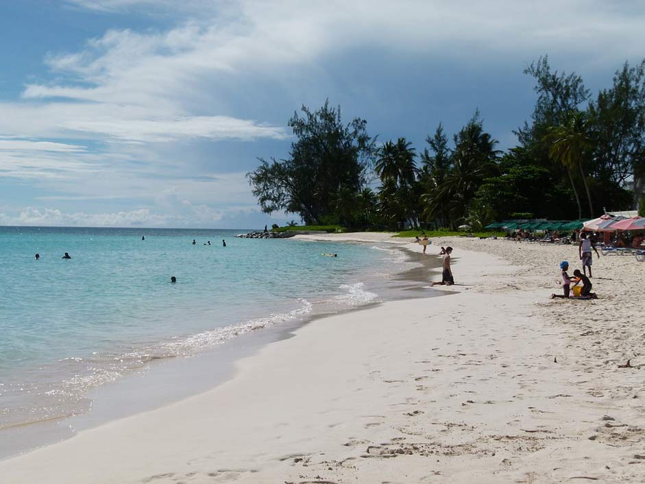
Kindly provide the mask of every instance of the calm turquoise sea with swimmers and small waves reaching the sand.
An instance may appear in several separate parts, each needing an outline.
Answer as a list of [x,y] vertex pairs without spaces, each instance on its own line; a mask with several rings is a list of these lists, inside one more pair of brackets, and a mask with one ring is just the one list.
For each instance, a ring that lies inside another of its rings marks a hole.
[[402,267],[386,247],[239,232],[0,227],[0,429],[84,411],[154,359],[378,300]]

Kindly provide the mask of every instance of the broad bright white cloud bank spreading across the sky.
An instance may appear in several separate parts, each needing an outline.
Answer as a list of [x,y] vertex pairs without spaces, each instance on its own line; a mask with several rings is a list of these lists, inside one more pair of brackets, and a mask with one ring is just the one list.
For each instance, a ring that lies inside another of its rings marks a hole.
[[[645,4],[637,2],[67,0],[67,5],[108,14],[104,18],[118,19],[109,16],[115,12],[163,16],[163,25],[171,27],[113,28],[78,49],[49,53],[45,63],[51,75],[30,80],[20,99],[0,102],[0,181],[29,180],[47,188],[48,202],[130,197],[156,204],[168,217],[195,220],[221,217],[218,206],[252,207],[254,201],[243,173],[218,173],[230,171],[236,160],[194,162],[193,152],[204,148],[191,151],[191,143],[286,139],[282,125],[256,113],[281,104],[288,104],[289,113],[314,91],[324,99],[321,78],[346,91],[354,80],[344,77],[335,58],[362,65],[369,52],[378,53],[384,65],[402,58],[410,64],[450,58],[487,69],[512,58],[520,70],[541,53],[566,50],[578,66],[613,70],[625,58],[642,56],[645,41]],[[428,82],[432,75],[428,72]],[[184,154],[167,153],[175,142],[186,147]],[[214,178],[191,180],[198,176]],[[184,200],[191,201],[188,208],[182,208]],[[40,208],[12,219],[180,223],[155,218],[161,216],[152,208],[103,211]]]

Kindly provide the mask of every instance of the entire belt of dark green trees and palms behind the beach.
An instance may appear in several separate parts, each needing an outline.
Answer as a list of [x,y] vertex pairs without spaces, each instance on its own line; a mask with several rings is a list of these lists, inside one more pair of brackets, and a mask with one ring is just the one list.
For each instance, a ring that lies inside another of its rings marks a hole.
[[[477,231],[494,220],[633,208],[645,180],[645,60],[625,63],[593,99],[580,75],[552,69],[546,56],[524,73],[535,80],[535,108],[515,132],[518,146],[504,154],[478,111],[452,136],[439,123],[417,160],[404,137],[375,149],[365,120],[344,125],[328,102],[315,111],[303,106],[289,121],[289,157],[260,158],[247,174],[258,204],[297,214],[308,230],[421,224],[454,231],[466,223]],[[368,186],[374,174],[378,189]],[[459,234],[446,230],[435,233]]]

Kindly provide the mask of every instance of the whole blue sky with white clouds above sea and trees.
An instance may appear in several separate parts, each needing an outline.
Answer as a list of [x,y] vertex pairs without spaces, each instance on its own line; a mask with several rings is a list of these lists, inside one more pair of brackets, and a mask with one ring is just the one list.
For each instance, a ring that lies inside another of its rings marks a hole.
[[645,57],[640,1],[22,0],[0,3],[0,224],[256,228],[244,174],[326,98],[417,151],[477,108],[505,149],[522,74],[609,86]]

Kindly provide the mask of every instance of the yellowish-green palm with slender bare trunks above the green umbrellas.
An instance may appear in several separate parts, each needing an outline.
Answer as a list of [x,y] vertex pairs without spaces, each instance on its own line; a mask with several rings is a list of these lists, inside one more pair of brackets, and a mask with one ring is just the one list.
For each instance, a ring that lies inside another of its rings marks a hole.
[[551,142],[549,156],[552,160],[561,163],[569,175],[571,186],[576,195],[578,204],[578,217],[582,218],[582,207],[576,186],[571,174],[572,169],[579,169],[580,176],[585,185],[587,192],[587,202],[589,202],[589,216],[594,217],[594,206],[592,204],[592,195],[589,192],[589,185],[585,177],[583,162],[585,154],[592,147],[592,139],[589,136],[589,126],[584,112],[574,112],[568,116],[565,123],[559,126],[552,126],[546,136]]

